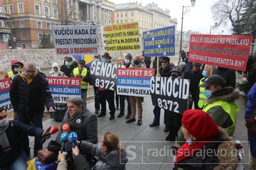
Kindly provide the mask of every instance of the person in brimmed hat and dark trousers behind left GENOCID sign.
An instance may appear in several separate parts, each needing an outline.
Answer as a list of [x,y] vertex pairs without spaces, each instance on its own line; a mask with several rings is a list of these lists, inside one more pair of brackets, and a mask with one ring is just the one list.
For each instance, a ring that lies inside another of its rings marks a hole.
[[[104,53],[102,55],[102,61],[103,62],[109,62],[111,63],[111,56],[109,53]],[[98,87],[99,90],[99,103],[102,106],[102,110],[100,111],[100,114],[98,117],[102,117],[106,115],[106,101],[109,103],[109,110],[110,110],[110,120],[114,119],[114,114],[116,114],[116,108],[114,108],[114,91],[109,89],[104,89]]]

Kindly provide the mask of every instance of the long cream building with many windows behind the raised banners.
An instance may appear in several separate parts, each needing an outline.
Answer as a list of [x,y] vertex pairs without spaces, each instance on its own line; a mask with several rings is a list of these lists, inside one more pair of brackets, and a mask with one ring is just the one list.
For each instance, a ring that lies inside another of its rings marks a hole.
[[138,21],[142,48],[144,31],[173,25],[177,27],[178,24],[177,19],[171,18],[169,10],[163,10],[155,3],[149,3],[146,6],[138,2],[116,4],[114,13],[115,23]]

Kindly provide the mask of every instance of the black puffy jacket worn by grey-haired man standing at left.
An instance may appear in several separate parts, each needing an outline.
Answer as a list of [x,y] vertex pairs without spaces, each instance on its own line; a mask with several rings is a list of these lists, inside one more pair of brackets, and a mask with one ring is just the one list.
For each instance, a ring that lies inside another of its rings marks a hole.
[[48,81],[39,72],[30,84],[20,75],[15,76],[10,89],[11,105],[20,114],[34,116],[42,114],[44,105],[54,108]]

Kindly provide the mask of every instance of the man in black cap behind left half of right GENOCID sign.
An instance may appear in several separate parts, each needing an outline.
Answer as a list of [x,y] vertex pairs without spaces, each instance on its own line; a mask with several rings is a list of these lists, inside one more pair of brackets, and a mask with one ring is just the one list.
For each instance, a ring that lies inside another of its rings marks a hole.
[[[172,66],[170,65],[170,58],[167,56],[163,56],[161,60],[161,67],[159,68],[159,74],[157,74],[157,70],[154,72],[155,76],[158,77],[170,77],[172,69]],[[160,123],[160,111],[161,108],[154,107],[153,114],[154,114],[154,120],[151,122],[150,127],[159,126]],[[169,131],[169,126],[165,126],[165,132]]]

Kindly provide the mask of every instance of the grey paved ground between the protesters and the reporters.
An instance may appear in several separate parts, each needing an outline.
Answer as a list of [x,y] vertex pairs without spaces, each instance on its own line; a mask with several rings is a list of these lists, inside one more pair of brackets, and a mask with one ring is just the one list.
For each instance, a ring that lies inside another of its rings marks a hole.
[[[237,75],[237,81],[241,81],[241,75]],[[245,127],[245,100],[244,96],[239,96],[236,101],[240,106],[240,111],[237,113],[237,123],[234,132],[234,140],[245,141],[242,143],[245,152],[245,158],[241,161],[245,169],[250,167],[250,151],[247,143],[247,129]],[[87,103],[87,109],[94,113],[94,102]],[[107,111],[108,112],[108,111]],[[138,126],[137,121],[130,124],[126,123],[125,116],[117,118],[119,111],[116,111],[116,118],[109,120],[110,115],[98,118],[98,138],[104,133],[112,131],[118,134],[120,145],[126,149],[129,161],[126,164],[127,169],[172,169],[172,157],[169,157],[171,146],[174,144],[170,141],[165,141],[165,137],[169,132],[164,132],[164,110],[161,110],[160,125],[150,127],[149,124],[153,120],[153,105],[150,97],[144,97],[143,102],[143,119],[142,125]],[[125,110],[127,114],[127,110]],[[137,118],[137,115],[136,115]],[[52,119],[43,121],[43,128],[57,125],[61,123],[55,122]],[[180,135],[180,131],[179,131]],[[56,134],[53,134],[50,140],[55,139]],[[33,148],[33,137],[30,137],[30,147]],[[46,147],[49,141],[44,143]],[[32,149],[31,149],[32,153]]]

